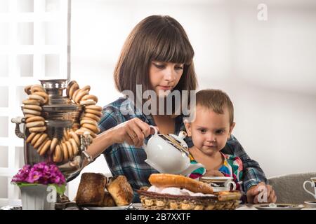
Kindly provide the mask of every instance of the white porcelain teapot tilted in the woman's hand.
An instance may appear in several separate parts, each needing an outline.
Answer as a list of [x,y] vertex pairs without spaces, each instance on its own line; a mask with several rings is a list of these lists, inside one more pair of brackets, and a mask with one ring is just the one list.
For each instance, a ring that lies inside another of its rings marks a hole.
[[143,148],[147,154],[145,162],[163,174],[187,175],[195,169],[203,167],[202,164],[191,164],[187,144],[183,140],[185,132],[175,134],[158,134],[157,128],[154,134],[144,144]]

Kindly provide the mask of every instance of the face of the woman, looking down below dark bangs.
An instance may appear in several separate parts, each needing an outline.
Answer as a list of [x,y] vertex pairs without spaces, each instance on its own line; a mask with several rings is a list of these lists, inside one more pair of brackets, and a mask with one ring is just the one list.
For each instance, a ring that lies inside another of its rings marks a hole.
[[157,96],[166,97],[176,87],[183,74],[183,65],[152,61],[149,71],[150,85]]

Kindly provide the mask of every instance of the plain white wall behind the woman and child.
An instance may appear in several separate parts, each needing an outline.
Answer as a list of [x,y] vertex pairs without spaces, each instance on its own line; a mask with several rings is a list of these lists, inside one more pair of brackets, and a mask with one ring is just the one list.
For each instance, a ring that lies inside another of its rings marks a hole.
[[[258,3],[268,20],[258,21]],[[267,176],[315,171],[316,2],[72,1],[72,79],[100,105],[119,93],[112,73],[131,29],[147,15],[176,18],[195,48],[199,88],[225,90],[235,136]],[[108,173],[104,158],[86,171]],[[70,183],[70,197],[79,179]]]

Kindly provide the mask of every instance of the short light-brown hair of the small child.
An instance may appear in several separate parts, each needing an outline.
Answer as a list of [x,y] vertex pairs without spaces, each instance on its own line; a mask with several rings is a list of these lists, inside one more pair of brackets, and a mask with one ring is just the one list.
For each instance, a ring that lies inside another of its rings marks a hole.
[[222,90],[206,89],[200,90],[196,94],[196,105],[211,109],[215,113],[224,113],[225,106],[228,108],[230,115],[230,125],[234,123],[234,106],[228,97],[228,94]]

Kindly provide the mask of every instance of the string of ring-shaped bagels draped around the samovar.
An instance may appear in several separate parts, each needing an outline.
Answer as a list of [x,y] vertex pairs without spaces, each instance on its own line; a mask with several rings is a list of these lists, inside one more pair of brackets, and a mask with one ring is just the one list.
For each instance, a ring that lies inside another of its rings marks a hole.
[[67,97],[75,104],[83,106],[84,110],[80,123],[74,123],[71,128],[65,129],[62,139],[51,139],[46,134],[45,119],[41,116],[42,106],[48,104],[49,96],[39,84],[26,86],[28,98],[22,101],[22,111],[30,133],[26,139],[27,144],[31,144],[39,155],[47,154],[53,162],[72,160],[79,153],[80,135],[88,132],[93,139],[100,132],[98,122],[102,116],[102,107],[96,105],[98,97],[90,94],[90,89],[89,85],[80,88],[75,80],[67,85]]

